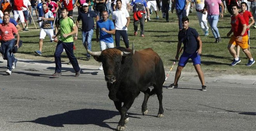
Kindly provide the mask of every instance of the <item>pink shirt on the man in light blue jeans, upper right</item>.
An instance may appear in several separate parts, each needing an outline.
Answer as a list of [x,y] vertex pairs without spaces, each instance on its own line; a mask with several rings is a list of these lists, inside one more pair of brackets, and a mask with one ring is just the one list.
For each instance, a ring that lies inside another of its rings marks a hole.
[[220,15],[219,4],[221,0],[205,0],[204,4],[207,5],[208,15]]

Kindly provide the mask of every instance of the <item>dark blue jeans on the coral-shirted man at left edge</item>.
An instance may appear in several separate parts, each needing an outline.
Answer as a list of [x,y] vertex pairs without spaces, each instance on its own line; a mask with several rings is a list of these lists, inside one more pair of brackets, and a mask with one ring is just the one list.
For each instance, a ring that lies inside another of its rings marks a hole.
[[12,48],[14,45],[15,39],[9,41],[1,41],[1,49],[2,54],[5,60],[7,60],[7,69],[12,71],[12,62],[14,62],[15,58],[12,55]]

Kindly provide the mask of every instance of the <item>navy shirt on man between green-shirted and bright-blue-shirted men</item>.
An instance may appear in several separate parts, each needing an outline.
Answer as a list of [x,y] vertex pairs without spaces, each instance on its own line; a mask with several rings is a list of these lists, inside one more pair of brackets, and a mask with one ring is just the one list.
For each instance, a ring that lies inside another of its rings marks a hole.
[[94,17],[97,17],[97,14],[93,11],[81,12],[78,15],[77,20],[82,20],[82,31],[86,32],[94,28]]

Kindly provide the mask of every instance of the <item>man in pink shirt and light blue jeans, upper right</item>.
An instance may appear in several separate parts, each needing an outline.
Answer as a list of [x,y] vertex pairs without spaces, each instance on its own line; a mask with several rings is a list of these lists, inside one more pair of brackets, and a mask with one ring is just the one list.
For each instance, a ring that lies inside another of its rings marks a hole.
[[[219,6],[221,6],[221,13],[219,10]],[[217,28],[217,24],[219,21],[219,16],[223,18],[224,5],[221,0],[205,0],[204,1],[204,11],[206,14],[206,9],[208,12],[207,18],[211,27],[211,31],[213,32],[213,36],[215,38],[215,43],[220,42],[220,33]]]

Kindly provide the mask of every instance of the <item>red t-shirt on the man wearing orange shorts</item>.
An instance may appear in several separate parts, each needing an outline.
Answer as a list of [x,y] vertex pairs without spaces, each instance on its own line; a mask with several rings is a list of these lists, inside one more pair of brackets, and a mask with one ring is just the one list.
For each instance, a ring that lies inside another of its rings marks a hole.
[[[243,25],[246,24],[246,22],[244,20],[244,17],[241,14],[238,14],[236,17],[235,16],[231,17],[230,24],[232,26],[234,36],[238,37],[239,35],[241,35],[243,31]],[[245,32],[243,36],[246,36],[246,35],[247,35],[247,32]]]

